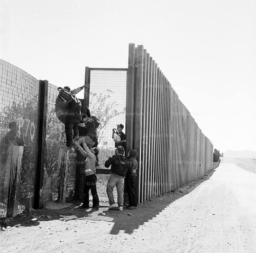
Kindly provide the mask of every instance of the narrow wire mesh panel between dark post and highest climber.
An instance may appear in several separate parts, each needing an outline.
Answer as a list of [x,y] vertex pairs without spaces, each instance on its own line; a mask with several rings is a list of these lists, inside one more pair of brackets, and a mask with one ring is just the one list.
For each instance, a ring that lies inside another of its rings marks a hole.
[[[46,118],[46,150],[44,166],[43,201],[55,201],[60,198],[60,175],[58,157],[65,146],[64,124],[56,117],[55,101],[58,96],[57,86],[48,84],[47,118]],[[75,181],[76,155],[69,154],[66,197],[73,196]]]

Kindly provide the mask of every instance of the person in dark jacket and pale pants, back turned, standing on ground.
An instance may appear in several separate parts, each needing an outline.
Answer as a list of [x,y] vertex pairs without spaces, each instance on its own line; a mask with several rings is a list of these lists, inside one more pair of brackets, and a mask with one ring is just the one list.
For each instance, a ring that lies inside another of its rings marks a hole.
[[111,174],[107,183],[107,194],[109,198],[109,209],[115,208],[116,203],[113,196],[113,189],[116,186],[118,192],[119,211],[123,211],[124,205],[124,179],[127,172],[127,162],[124,157],[124,147],[118,146],[115,155],[112,155],[106,162],[105,167],[110,168]]

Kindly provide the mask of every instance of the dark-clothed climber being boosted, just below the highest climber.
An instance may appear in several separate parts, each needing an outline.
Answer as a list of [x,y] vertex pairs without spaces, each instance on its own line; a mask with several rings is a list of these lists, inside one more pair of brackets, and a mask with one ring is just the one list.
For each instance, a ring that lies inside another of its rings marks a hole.
[[85,143],[89,148],[97,147],[97,128],[100,125],[98,118],[94,115],[91,115],[91,117],[84,115],[82,116],[82,123],[84,123],[85,127],[79,127],[80,137],[84,137]]

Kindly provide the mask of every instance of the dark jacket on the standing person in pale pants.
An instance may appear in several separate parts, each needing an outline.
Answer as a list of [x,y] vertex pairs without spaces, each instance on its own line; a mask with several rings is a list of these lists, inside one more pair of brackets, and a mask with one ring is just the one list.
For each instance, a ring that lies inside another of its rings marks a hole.
[[112,155],[106,162],[105,167],[109,168],[111,165],[111,172],[125,177],[127,172],[127,161],[123,155]]

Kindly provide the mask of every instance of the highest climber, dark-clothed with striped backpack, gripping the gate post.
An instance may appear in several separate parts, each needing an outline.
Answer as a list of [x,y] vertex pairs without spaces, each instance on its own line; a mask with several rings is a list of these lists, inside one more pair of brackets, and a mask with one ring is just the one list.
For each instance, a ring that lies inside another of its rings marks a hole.
[[[78,126],[85,126],[81,123],[81,101],[75,97],[84,86],[75,90],[70,90],[70,87],[59,87],[59,94],[55,102],[55,113],[57,118],[65,125],[66,146],[72,148],[73,132],[74,140],[79,139]],[[72,132],[73,130],[73,132]]]

